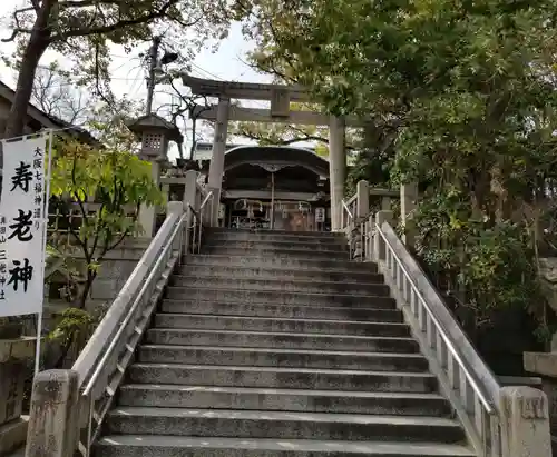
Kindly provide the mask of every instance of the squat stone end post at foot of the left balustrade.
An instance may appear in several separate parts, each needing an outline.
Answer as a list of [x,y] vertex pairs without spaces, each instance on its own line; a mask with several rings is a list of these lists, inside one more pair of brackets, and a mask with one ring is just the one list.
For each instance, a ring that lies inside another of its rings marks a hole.
[[78,374],[48,370],[33,381],[26,457],[68,457],[79,434]]

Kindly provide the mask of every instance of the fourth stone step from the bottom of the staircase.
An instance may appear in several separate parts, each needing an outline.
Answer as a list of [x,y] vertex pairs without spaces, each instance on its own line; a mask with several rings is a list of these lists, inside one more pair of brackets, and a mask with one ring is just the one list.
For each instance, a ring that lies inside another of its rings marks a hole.
[[180,364],[134,364],[130,383],[283,389],[339,389],[428,394],[438,388],[430,372],[211,366]]

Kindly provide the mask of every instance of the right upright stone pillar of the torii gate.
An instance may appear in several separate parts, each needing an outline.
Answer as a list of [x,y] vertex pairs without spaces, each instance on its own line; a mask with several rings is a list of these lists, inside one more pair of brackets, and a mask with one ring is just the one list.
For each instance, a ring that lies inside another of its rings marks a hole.
[[342,225],[342,199],[346,178],[346,153],[344,150],[344,121],[331,117],[329,123],[329,172],[331,182],[331,230],[339,231]]

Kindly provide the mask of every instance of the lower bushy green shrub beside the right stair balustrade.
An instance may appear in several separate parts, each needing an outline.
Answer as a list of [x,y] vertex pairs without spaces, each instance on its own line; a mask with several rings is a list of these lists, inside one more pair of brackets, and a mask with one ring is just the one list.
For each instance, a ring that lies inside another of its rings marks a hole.
[[460,305],[473,311],[477,327],[491,324],[504,309],[537,311],[544,300],[527,228],[509,220],[473,219],[462,197],[436,195],[421,202],[412,220],[417,254],[446,278]]

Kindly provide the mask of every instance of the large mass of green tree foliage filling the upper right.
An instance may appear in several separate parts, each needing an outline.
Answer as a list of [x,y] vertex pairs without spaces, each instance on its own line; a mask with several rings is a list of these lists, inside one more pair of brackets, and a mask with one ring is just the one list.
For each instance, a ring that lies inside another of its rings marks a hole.
[[420,183],[418,254],[476,324],[515,307],[545,315],[536,275],[555,226],[557,2],[255,3],[252,60],[371,123],[352,180],[378,182],[387,165],[391,186]]

